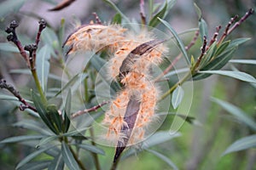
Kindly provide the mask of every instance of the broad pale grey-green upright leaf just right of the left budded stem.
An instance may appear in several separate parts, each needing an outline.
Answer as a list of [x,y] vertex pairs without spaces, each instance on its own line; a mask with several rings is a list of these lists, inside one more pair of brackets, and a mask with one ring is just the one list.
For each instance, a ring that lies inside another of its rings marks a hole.
[[36,59],[36,68],[38,71],[38,78],[41,82],[43,91],[46,92],[48,76],[49,76],[49,59],[50,59],[50,50],[48,45],[44,45],[38,51]]

